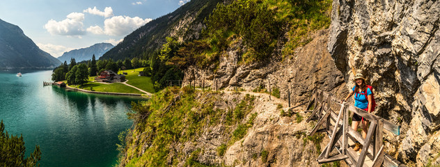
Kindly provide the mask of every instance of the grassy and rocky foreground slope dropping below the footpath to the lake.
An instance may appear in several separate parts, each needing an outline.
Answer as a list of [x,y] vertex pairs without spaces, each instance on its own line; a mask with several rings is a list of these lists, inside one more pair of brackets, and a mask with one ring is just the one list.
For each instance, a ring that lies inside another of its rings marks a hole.
[[149,118],[136,119],[128,135],[121,166],[318,166],[327,138],[306,136],[311,125],[302,114],[280,116],[285,101],[265,93],[184,91],[152,97],[154,106],[139,116]]

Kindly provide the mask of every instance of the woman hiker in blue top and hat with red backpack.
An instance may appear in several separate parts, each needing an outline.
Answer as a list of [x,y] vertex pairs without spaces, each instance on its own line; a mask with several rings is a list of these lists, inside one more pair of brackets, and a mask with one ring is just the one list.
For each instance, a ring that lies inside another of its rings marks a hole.
[[[356,74],[356,76],[354,77],[354,82],[356,83],[355,86],[352,88],[352,91],[350,91],[347,97],[345,97],[343,102],[347,102],[347,99],[354,94],[354,106],[358,107],[359,109],[368,111],[368,113],[371,113],[372,106],[368,107],[368,105],[372,105],[372,90],[370,90],[370,88],[367,88],[366,79],[363,78],[363,75],[359,73]],[[368,123],[370,121],[354,113],[352,118],[352,129],[354,129],[354,131],[357,131],[360,122],[362,122],[362,137],[366,138],[368,132]],[[359,141],[356,141],[356,145],[353,150],[360,151],[361,147],[361,143],[359,143]]]

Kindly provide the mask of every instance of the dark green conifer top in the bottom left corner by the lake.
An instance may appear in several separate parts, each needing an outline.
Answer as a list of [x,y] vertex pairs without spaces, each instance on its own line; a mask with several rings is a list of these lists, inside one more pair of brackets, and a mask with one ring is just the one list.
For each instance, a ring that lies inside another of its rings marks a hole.
[[0,166],[40,166],[38,161],[41,159],[40,146],[36,145],[35,150],[24,158],[26,148],[24,147],[23,136],[9,136],[8,132],[4,131],[5,125],[3,120],[0,122]]

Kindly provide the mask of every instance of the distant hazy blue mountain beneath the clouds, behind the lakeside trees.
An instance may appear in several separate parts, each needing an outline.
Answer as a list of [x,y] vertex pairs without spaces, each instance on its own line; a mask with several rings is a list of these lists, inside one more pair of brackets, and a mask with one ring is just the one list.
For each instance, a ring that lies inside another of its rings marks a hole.
[[62,56],[58,57],[58,60],[61,62],[67,61],[68,63],[70,63],[70,58],[75,58],[77,62],[88,61],[92,59],[93,54],[95,54],[96,58],[100,58],[113,47],[114,46],[109,43],[98,43],[91,47],[66,51]]

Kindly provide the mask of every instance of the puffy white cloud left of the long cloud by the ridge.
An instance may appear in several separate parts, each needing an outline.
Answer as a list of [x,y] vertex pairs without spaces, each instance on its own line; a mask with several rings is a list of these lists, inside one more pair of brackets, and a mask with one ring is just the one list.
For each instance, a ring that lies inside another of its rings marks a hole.
[[84,35],[86,31],[83,29],[83,21],[83,13],[70,13],[61,22],[50,19],[44,28],[52,35]]

